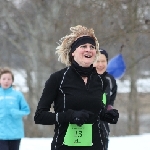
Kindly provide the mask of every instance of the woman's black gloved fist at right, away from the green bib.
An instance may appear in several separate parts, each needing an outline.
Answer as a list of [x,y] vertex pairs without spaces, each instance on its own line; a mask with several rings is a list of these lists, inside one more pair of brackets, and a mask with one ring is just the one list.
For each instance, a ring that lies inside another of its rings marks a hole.
[[110,124],[116,124],[118,122],[119,113],[116,109],[103,109],[100,113],[100,119]]

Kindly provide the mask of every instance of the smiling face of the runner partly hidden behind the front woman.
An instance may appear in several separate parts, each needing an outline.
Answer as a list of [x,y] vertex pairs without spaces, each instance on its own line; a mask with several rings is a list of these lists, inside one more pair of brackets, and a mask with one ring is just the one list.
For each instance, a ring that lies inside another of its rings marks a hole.
[[100,54],[97,61],[93,64],[94,67],[96,67],[98,74],[103,74],[107,69],[107,59],[106,56],[103,54]]

